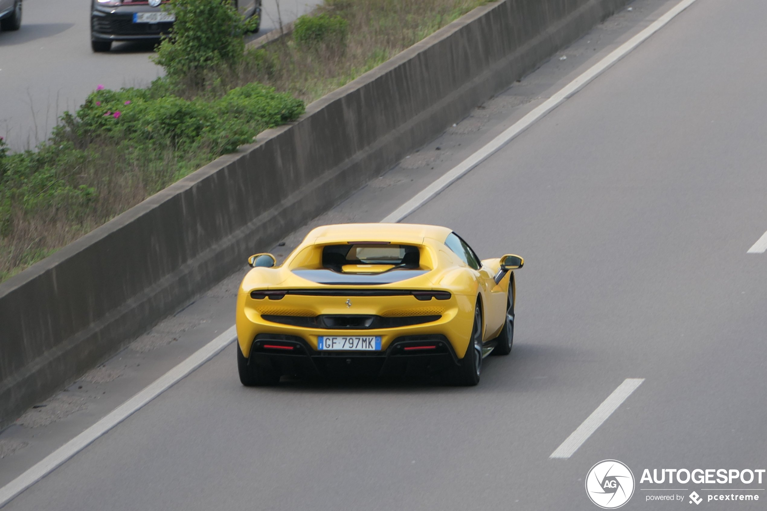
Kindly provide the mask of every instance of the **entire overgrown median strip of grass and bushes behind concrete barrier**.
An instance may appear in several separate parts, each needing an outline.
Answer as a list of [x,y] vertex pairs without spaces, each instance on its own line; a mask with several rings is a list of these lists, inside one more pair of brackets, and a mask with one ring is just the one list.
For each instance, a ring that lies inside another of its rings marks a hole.
[[[212,16],[206,11],[211,2],[195,1],[172,0],[186,9],[177,13],[185,20],[179,27]],[[167,77],[146,89],[94,91],[77,112],[61,116],[35,151],[9,153],[0,139],[0,281],[263,129],[294,120],[304,102],[487,2],[325,0],[296,21],[294,34],[242,58],[200,49],[199,39],[183,34],[176,34],[173,47],[172,35],[155,57]],[[209,34],[220,47],[216,41],[242,27],[216,15],[236,28]],[[182,45],[188,51],[179,51]],[[189,61],[190,51],[199,54],[196,61]]]

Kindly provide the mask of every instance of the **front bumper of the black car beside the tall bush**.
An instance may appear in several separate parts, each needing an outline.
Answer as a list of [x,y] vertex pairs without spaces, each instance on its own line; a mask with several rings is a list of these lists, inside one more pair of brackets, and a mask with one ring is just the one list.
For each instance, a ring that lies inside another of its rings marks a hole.
[[155,12],[148,5],[121,5],[91,10],[91,39],[94,41],[157,40],[167,34],[173,21],[165,23],[133,23],[137,12]]

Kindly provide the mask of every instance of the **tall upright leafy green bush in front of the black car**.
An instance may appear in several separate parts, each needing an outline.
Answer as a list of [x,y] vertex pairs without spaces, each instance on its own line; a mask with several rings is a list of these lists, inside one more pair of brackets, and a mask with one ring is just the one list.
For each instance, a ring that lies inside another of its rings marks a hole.
[[258,22],[245,21],[229,0],[170,0],[166,9],[176,21],[153,60],[171,80],[193,85],[211,70],[242,61],[243,36]]

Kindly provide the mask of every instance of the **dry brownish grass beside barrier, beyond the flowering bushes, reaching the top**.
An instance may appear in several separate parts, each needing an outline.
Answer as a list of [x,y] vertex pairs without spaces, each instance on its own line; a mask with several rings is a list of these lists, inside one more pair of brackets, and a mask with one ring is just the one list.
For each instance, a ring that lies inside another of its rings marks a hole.
[[325,0],[311,16],[298,18],[292,37],[246,51],[238,67],[218,78],[230,87],[258,81],[311,102],[486,3]]

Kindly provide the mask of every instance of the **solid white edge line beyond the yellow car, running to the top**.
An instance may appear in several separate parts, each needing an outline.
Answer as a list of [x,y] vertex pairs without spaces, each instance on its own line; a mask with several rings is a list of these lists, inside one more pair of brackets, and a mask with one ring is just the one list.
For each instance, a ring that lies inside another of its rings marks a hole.
[[620,61],[623,57],[634,50],[635,47],[646,41],[647,38],[649,38],[655,32],[659,31],[660,28],[663,28],[663,26],[671,21],[676,15],[690,7],[690,5],[693,5],[693,3],[696,1],[697,0],[683,0],[682,2],[674,5],[673,8],[667,11],[666,14],[658,18],[656,21],[653,21],[650,26],[645,28],[643,31],[640,31],[639,34],[635,35],[633,38],[630,38],[624,44],[621,44],[621,46],[617,47],[614,51],[611,52],[611,54],[607,55],[607,57],[604,57],[601,61],[597,62],[597,64],[591,66],[588,70],[584,71],[583,74],[575,78],[575,80],[572,80],[569,84],[565,85],[564,88],[548,98],[548,100],[545,100],[543,103],[535,107],[535,110],[532,110],[532,112],[522,117],[522,119],[512,124],[512,126],[506,128],[503,133],[501,133],[499,136],[496,136],[495,139],[492,139],[485,146],[479,149],[479,151],[472,154],[472,156],[469,156],[469,158],[463,160],[463,162],[460,162],[441,178],[437,179],[431,185],[424,188],[423,191],[418,195],[411,198],[410,201],[407,201],[405,204],[394,210],[393,213],[384,218],[382,222],[401,221],[403,218],[407,217],[407,215],[410,215],[410,213],[416,211],[416,209],[420,208],[426,204],[426,202],[436,197],[436,195],[439,195],[440,192],[443,192],[445,188],[447,188],[449,185],[452,185],[453,182],[456,182],[459,178],[466,174],[466,172],[469,172],[469,170],[473,169],[493,153],[511,142],[512,139],[518,136],[519,133],[522,133],[525,131],[525,129],[528,129],[528,127],[532,126],[535,124],[535,122],[542,119],[542,117],[547,113],[551,112],[551,110],[554,110],[557,106],[561,105],[561,103],[564,103],[568,97],[571,97],[574,93],[577,93],[578,90],[581,90],[586,84],[591,82],[591,80],[594,80],[594,78],[604,73],[605,70],[615,64],[617,61]]

